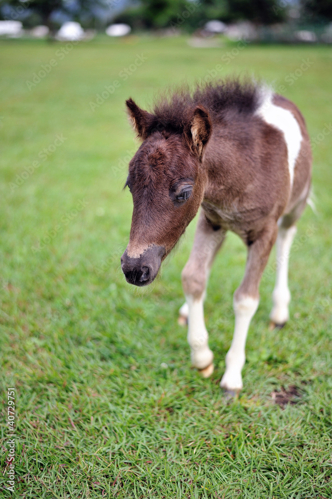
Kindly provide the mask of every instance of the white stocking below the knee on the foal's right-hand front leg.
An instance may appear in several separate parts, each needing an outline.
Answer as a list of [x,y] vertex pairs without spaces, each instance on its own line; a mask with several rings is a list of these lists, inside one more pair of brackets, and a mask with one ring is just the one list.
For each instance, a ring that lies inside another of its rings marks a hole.
[[243,387],[241,371],[246,361],[246,339],[250,321],[253,318],[259,299],[245,296],[234,299],[235,329],[231,348],[226,355],[226,371],[220,386],[229,391],[239,391]]

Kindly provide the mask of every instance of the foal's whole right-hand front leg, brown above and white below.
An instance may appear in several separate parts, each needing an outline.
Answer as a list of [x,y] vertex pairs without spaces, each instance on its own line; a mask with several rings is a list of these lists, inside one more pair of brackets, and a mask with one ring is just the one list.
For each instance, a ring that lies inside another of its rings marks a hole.
[[231,395],[235,395],[243,387],[241,371],[246,360],[248,329],[258,307],[259,283],[276,237],[277,224],[271,222],[259,239],[249,246],[245,276],[234,293],[234,335],[226,355],[226,371],[220,382],[220,386]]

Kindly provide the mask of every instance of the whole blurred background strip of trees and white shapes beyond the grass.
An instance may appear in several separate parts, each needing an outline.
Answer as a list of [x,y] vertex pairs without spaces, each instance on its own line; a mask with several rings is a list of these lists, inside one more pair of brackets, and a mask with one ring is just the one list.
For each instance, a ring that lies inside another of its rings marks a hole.
[[106,29],[109,36],[149,30],[332,42],[331,0],[1,0],[0,19],[11,21],[0,23],[0,34],[15,37],[86,39]]

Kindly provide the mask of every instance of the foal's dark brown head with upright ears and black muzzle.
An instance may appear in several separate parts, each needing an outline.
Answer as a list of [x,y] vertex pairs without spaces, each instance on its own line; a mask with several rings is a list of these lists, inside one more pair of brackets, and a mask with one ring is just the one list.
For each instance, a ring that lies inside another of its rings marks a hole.
[[126,280],[150,284],[203,199],[201,168],[211,121],[201,106],[188,109],[184,122],[165,124],[157,116],[126,102],[129,117],[143,141],[129,163],[126,186],[134,209],[130,238],[121,257]]

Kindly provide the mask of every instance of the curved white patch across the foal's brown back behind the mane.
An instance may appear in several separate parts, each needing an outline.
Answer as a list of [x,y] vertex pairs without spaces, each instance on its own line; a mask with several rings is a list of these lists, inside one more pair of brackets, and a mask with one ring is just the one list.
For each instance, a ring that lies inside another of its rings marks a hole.
[[263,103],[259,107],[257,113],[266,123],[274,126],[284,134],[288,151],[288,168],[292,187],[295,163],[301,149],[302,133],[300,125],[293,113],[288,109],[273,104],[272,98],[273,93],[269,92],[264,97]]

